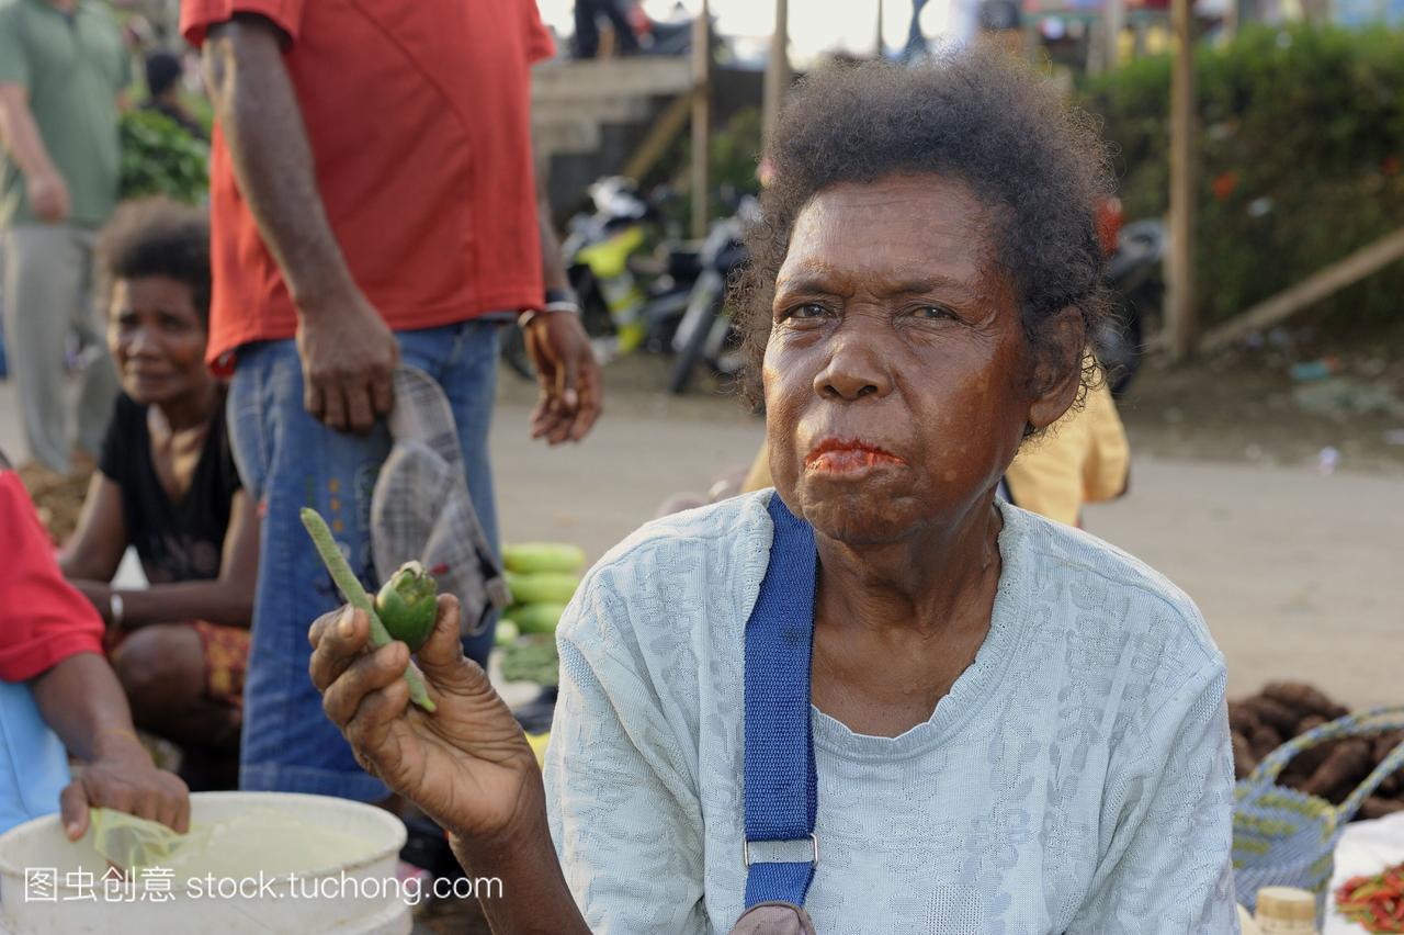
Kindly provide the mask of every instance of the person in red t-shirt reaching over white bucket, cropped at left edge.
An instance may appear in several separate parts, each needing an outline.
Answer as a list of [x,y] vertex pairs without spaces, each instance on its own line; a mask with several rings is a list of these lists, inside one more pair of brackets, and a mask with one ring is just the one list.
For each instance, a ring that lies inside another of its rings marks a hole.
[[[20,476],[0,453],[0,834],[60,810],[76,841],[88,806],[190,828],[190,793],[136,740],[102,621],[53,557]],[[87,761],[69,782],[65,747]]]

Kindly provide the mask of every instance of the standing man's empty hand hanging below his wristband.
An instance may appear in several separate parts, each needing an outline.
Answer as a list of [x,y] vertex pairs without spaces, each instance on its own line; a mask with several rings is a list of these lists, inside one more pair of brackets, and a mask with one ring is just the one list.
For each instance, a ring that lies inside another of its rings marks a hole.
[[526,323],[525,338],[541,385],[531,437],[552,445],[580,441],[604,407],[604,382],[590,336],[578,316],[543,312]]

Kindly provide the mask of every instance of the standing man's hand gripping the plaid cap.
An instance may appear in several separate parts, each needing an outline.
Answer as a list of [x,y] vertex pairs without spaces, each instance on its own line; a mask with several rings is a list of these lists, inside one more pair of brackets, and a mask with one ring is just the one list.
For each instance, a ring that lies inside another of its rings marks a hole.
[[365,435],[395,406],[395,333],[359,289],[299,316],[302,399],[313,418]]

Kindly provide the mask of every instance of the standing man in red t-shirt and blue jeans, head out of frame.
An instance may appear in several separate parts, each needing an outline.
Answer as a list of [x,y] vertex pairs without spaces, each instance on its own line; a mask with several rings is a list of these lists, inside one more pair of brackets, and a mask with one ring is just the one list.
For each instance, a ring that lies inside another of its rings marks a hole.
[[[316,507],[364,580],[380,421],[404,361],[444,389],[496,546],[487,463],[497,329],[522,316],[532,434],[578,441],[600,371],[559,253],[543,271],[529,67],[535,0],[184,0],[215,104],[209,361],[264,510],[240,785],[373,800],[385,788],[322,716],[306,628],[336,602],[298,521]],[[548,300],[550,299],[550,300]],[[491,632],[472,640],[486,661]]]

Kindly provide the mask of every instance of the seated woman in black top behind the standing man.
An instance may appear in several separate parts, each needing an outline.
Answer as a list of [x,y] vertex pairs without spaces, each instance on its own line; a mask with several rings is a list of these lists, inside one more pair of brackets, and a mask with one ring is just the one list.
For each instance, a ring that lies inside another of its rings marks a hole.
[[[98,254],[122,394],[60,564],[107,622],[136,724],[181,744],[192,786],[230,785],[201,769],[237,764],[258,524],[225,386],[205,366],[209,226],[174,202],[133,202]],[[128,546],[150,587],[112,587]]]

